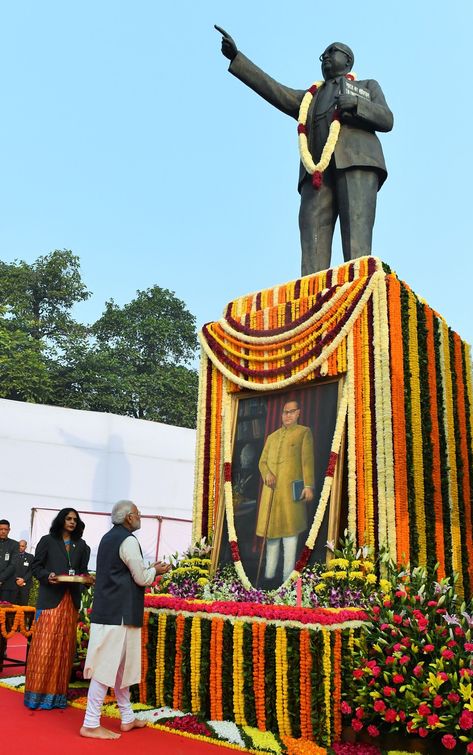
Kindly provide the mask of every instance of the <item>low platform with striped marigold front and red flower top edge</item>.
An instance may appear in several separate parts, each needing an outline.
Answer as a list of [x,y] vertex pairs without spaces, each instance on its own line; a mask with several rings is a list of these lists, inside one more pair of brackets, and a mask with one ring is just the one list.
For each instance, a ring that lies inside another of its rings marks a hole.
[[338,741],[363,610],[146,597],[140,699],[280,736]]

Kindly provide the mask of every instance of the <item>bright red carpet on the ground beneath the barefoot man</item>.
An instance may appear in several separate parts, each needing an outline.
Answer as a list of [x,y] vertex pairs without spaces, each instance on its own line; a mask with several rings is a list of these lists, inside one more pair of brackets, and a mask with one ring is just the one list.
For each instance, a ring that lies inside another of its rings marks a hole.
[[[25,639],[15,635],[8,641],[7,655],[24,658]],[[6,667],[0,677],[24,674],[24,667]],[[105,751],[113,755],[236,755],[238,750],[222,745],[207,744],[178,734],[146,727],[122,734],[115,740],[91,740],[79,736],[84,712],[68,707],[66,710],[32,711],[23,705],[23,695],[0,687],[1,739],[13,750],[34,750],[38,755],[95,755]],[[117,718],[103,718],[102,723],[113,731],[120,731]],[[16,743],[14,745],[13,743]],[[241,752],[241,751],[240,751]]]

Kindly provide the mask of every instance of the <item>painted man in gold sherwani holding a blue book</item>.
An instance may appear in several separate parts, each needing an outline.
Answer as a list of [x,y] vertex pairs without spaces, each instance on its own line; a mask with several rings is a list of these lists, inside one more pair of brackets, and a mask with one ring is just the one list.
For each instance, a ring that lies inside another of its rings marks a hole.
[[297,401],[284,404],[282,427],[268,435],[259,460],[264,485],[256,534],[266,541],[266,580],[276,575],[281,541],[283,581],[294,569],[298,535],[307,529],[307,504],[314,498],[314,440],[310,427],[299,425],[300,412]]

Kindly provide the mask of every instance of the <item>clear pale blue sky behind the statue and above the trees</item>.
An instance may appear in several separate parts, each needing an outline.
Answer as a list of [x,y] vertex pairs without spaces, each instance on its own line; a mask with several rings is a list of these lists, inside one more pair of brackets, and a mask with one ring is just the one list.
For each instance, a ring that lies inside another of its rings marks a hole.
[[297,88],[353,48],[395,118],[373,251],[471,343],[472,0],[1,3],[1,259],[72,249],[85,322],[158,284],[200,327],[298,276],[296,124],[227,73],[214,23]]

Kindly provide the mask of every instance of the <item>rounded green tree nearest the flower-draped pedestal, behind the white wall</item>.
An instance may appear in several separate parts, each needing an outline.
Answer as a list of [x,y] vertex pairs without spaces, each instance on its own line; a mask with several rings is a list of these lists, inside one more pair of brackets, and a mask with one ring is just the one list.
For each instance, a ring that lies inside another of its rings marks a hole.
[[92,348],[79,347],[58,376],[63,403],[195,427],[195,318],[172,291],[153,286],[123,307],[108,301],[91,332]]

